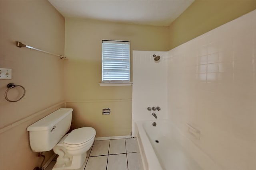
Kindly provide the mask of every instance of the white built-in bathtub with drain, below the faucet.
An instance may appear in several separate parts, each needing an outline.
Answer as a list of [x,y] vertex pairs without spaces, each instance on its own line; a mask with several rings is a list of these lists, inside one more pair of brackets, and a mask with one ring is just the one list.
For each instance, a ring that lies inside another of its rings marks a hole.
[[[152,125],[156,122],[156,126]],[[168,120],[138,121],[135,136],[144,170],[220,170]],[[159,143],[156,142],[159,141]]]

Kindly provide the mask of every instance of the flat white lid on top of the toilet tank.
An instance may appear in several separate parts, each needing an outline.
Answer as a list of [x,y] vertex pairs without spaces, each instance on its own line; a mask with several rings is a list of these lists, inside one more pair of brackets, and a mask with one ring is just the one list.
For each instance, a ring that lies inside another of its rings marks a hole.
[[72,113],[73,109],[69,108],[60,108],[46,117],[40,119],[39,121],[35,122],[34,124],[27,127],[27,131],[44,131],[52,128],[56,125],[59,121],[61,121],[64,117],[68,114]]

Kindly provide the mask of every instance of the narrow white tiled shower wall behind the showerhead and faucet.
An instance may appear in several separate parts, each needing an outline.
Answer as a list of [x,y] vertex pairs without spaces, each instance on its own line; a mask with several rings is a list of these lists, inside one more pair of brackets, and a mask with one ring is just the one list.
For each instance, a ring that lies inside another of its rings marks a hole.
[[[134,122],[167,118],[167,62],[163,51],[133,51],[132,84],[132,133]],[[153,55],[159,55],[154,61]],[[147,107],[161,108],[160,111],[148,111]],[[132,134],[134,135],[134,134]]]

